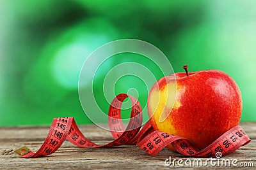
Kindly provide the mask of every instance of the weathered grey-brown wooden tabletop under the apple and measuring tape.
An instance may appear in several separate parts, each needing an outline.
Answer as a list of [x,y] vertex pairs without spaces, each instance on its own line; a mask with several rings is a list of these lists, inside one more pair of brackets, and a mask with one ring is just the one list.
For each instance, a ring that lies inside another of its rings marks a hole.
[[[236,152],[224,157],[230,162],[237,159],[237,165],[241,162],[253,163],[253,167],[236,167],[237,169],[255,169],[256,167],[256,123],[241,123],[244,131],[252,141],[242,146]],[[100,129],[95,125],[80,125],[84,135],[93,142],[104,145],[113,140],[110,132]],[[28,146],[34,152],[42,145],[49,126],[47,127],[0,127],[0,169],[171,169],[173,166],[165,166],[164,160],[172,156],[172,159],[190,159],[179,153],[173,153],[167,148],[156,157],[151,157],[134,145],[124,145],[115,148],[78,148],[65,141],[61,148],[52,155],[36,159],[22,159],[14,152],[21,146]],[[204,163],[205,159],[200,158]],[[175,161],[175,167],[177,161]],[[183,162],[184,164],[184,162]],[[185,166],[186,167],[186,166]],[[192,166],[194,169],[204,167]],[[182,167],[180,167],[182,168]],[[184,167],[183,167],[184,168]],[[186,167],[188,168],[188,167]],[[207,168],[220,168],[207,164]],[[230,167],[234,168],[232,164]]]

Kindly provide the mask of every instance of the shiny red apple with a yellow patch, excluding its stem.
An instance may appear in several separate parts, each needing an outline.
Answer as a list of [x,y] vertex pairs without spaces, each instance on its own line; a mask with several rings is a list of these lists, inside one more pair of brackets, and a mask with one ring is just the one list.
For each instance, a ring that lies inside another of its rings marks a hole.
[[202,150],[239,124],[243,104],[236,82],[212,69],[161,78],[148,94],[147,107],[155,130],[188,138]]

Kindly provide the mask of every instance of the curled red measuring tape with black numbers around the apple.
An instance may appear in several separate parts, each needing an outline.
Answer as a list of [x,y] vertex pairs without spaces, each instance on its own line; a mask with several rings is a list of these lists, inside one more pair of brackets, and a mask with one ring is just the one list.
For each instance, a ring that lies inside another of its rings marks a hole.
[[[132,102],[131,118],[127,128],[124,129],[124,125],[121,119],[121,106],[125,98],[129,97]],[[127,94],[119,94],[113,99],[111,106],[109,107],[109,129],[115,139],[111,143],[106,145],[97,145],[87,139],[76,125],[74,118],[63,117],[54,118],[51,128],[47,134],[43,145],[39,150],[34,153],[26,146],[19,148],[17,152],[20,157],[35,158],[50,155],[54,153],[65,139],[68,139],[76,146],[83,148],[103,148],[113,147],[125,144],[136,144],[142,150],[148,154],[155,156],[167,145],[172,145],[177,152],[193,157],[214,157],[216,153],[221,153],[223,156],[237,150],[240,146],[246,145],[251,140],[243,129],[237,125],[220,138],[216,139],[211,145],[199,150],[192,141],[179,136],[174,136],[161,131],[154,131],[150,121],[147,122],[140,130],[142,125],[142,113],[141,106],[138,100]]]

